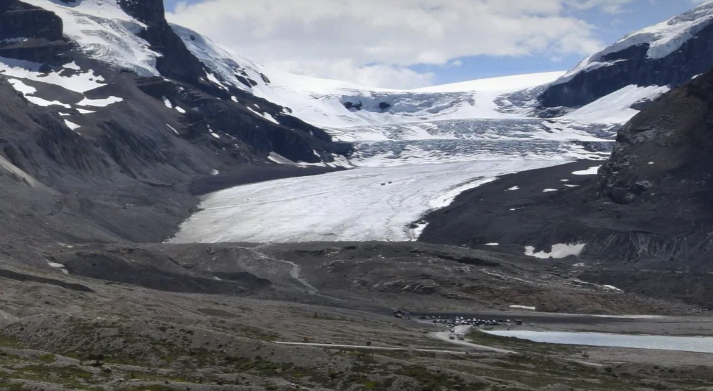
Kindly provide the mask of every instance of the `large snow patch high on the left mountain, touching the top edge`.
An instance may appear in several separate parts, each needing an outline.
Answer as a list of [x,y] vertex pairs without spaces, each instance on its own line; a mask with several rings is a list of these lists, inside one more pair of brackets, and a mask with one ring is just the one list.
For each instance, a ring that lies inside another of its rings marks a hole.
[[139,76],[160,76],[156,60],[161,55],[136,34],[146,25],[126,14],[116,0],[23,0],[52,11],[64,23],[64,35],[89,57]]

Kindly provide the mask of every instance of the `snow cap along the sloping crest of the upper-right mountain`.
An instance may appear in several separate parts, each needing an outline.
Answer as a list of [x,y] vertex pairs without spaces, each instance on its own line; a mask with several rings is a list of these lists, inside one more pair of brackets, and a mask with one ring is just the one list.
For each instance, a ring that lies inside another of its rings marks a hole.
[[613,65],[617,61],[607,62],[602,61],[602,58],[632,46],[648,44],[647,56],[649,58],[667,57],[712,21],[713,1],[709,1],[691,11],[625,36],[604,50],[586,58],[553,84],[566,83],[580,72],[589,72],[596,68]]

